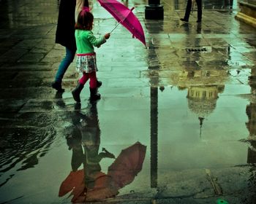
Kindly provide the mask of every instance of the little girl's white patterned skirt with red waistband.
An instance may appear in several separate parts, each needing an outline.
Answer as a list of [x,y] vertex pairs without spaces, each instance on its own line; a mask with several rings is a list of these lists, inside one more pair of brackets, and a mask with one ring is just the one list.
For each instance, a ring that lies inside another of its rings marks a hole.
[[91,73],[98,71],[95,53],[78,54],[77,55],[77,70],[80,72]]

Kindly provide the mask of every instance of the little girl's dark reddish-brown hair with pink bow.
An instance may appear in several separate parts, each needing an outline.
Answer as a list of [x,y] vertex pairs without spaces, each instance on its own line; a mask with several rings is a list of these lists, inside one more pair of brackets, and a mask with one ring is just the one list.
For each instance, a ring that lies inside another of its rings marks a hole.
[[78,30],[89,30],[94,21],[94,15],[89,12],[88,7],[83,7],[83,10],[79,12],[78,22],[75,23],[75,29]]

